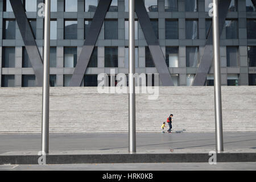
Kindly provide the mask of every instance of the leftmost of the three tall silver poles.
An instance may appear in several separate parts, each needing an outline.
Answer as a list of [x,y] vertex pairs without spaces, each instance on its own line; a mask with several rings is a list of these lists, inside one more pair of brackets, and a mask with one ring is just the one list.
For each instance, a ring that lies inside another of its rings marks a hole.
[[44,17],[44,78],[42,106],[42,151],[49,153],[49,42],[51,0],[46,0]]

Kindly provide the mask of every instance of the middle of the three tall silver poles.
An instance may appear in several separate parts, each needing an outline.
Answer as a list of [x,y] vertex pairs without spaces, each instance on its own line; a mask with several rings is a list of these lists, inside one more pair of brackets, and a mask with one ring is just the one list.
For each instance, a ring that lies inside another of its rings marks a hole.
[[129,0],[129,152],[136,152],[134,0]]

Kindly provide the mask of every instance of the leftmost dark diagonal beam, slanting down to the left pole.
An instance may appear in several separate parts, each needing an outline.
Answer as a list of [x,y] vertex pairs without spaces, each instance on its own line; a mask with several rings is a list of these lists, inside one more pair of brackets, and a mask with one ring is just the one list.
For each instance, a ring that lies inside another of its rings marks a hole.
[[22,1],[10,0],[16,22],[22,35],[23,42],[27,49],[28,57],[32,68],[34,69],[37,86],[43,86],[43,61],[32,33],[32,28],[28,22],[26,12],[22,5]]

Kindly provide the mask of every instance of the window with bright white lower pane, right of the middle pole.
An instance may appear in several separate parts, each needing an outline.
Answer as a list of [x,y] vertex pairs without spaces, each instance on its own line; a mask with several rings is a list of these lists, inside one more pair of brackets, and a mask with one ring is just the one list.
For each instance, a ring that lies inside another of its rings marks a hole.
[[167,67],[177,68],[179,67],[179,48],[178,47],[166,47],[166,64]]

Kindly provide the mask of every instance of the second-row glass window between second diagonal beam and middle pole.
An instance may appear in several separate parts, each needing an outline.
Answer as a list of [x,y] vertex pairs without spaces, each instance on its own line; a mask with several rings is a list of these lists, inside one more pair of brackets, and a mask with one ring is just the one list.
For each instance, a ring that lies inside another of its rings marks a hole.
[[105,20],[105,39],[118,39],[117,20]]

